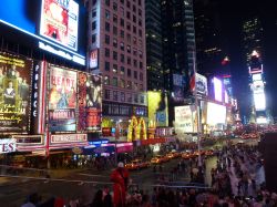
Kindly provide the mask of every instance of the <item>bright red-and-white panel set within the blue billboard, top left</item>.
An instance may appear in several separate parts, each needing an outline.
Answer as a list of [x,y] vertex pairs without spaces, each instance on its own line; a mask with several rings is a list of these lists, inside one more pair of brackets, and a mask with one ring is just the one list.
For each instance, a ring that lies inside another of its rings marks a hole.
[[78,49],[79,4],[73,0],[42,0],[40,34]]

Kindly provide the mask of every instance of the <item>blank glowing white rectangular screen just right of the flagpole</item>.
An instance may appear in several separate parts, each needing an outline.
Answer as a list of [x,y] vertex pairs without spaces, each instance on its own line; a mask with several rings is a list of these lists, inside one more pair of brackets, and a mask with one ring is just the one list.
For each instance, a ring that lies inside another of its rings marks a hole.
[[217,124],[225,124],[225,123],[226,123],[226,106],[208,102],[207,124],[211,126],[215,126]]

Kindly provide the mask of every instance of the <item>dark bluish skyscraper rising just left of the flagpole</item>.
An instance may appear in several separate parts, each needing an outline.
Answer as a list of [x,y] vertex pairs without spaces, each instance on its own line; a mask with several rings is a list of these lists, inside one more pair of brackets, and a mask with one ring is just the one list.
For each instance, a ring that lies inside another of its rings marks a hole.
[[163,70],[164,86],[171,95],[170,124],[174,117],[174,105],[184,104],[194,87],[194,61],[196,59],[194,11],[192,0],[163,0]]

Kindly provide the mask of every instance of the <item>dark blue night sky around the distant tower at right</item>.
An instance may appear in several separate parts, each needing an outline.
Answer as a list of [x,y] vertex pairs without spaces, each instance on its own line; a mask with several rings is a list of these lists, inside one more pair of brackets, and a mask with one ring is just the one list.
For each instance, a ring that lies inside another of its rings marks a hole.
[[211,0],[218,3],[218,12],[230,56],[234,92],[238,97],[240,112],[248,115],[248,74],[242,52],[242,20],[259,17],[265,31],[264,71],[267,103],[273,115],[277,116],[277,1],[275,0]]

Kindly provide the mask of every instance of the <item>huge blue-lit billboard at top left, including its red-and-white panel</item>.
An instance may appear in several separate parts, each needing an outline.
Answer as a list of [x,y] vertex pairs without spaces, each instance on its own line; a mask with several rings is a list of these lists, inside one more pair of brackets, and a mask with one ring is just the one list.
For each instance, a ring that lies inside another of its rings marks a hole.
[[[1,34],[85,65],[85,8],[73,0],[2,0]],[[11,12],[12,11],[12,12]]]

